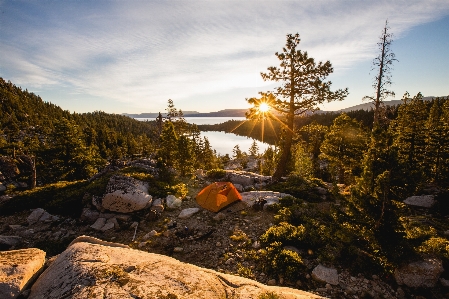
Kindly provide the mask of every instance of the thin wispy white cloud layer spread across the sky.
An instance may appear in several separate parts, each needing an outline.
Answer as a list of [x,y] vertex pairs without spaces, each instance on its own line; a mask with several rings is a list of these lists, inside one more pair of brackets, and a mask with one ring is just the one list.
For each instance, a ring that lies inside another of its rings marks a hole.
[[449,3],[0,0],[2,11],[0,75],[13,82],[135,111],[161,110],[168,98],[205,111],[230,104],[212,103],[219,93],[264,90],[259,73],[276,64],[287,33],[299,32],[301,48],[344,72],[372,59],[386,18],[400,38],[447,15]]

